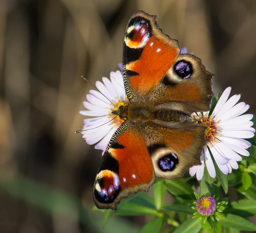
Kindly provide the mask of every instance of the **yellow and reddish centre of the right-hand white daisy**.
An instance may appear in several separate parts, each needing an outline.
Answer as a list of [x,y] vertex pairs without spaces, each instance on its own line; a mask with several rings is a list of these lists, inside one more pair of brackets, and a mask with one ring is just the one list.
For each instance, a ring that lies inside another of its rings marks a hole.
[[196,124],[207,127],[205,129],[205,139],[207,141],[207,144],[216,140],[216,136],[218,136],[219,132],[219,129],[217,127],[218,121],[214,121],[211,115],[192,115],[191,120]]

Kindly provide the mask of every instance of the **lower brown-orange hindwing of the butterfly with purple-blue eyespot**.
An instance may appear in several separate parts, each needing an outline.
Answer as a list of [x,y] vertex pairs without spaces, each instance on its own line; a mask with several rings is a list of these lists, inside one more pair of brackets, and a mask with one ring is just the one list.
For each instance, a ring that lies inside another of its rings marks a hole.
[[204,130],[190,121],[145,123],[143,135],[155,175],[174,179],[191,166],[200,165],[200,153],[205,145]]

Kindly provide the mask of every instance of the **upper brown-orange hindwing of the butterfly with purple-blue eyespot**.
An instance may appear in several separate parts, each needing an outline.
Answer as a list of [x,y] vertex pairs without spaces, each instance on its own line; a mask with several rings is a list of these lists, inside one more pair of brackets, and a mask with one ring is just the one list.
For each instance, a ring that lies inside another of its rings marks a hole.
[[212,75],[201,59],[180,54],[163,80],[148,94],[147,101],[158,108],[179,110],[187,115],[209,110],[212,101]]

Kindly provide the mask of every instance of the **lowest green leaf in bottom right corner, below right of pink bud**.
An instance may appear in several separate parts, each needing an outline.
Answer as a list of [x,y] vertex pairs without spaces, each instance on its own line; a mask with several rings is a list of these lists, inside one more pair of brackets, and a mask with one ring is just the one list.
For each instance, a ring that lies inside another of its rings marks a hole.
[[231,227],[237,230],[256,231],[255,224],[253,224],[252,222],[240,216],[237,216],[231,213],[228,213],[227,215],[224,215],[221,213],[219,215],[219,218],[220,218],[220,224],[223,227]]

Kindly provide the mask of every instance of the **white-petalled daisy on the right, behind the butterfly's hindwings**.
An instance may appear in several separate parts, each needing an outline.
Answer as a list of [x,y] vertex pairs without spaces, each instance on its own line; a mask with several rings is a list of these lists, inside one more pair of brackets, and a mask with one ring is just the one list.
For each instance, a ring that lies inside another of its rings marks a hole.
[[[207,146],[201,152],[201,165],[189,169],[189,174],[201,180],[204,174],[204,163],[209,175],[215,178],[215,168],[210,152],[222,173],[227,174],[238,169],[237,161],[240,155],[249,156],[248,149],[251,144],[243,138],[252,138],[255,129],[251,126],[252,114],[241,115],[249,109],[249,105],[241,102],[236,104],[241,95],[233,95],[229,100],[231,87],[224,90],[213,112],[194,113],[191,118],[197,124],[206,126]],[[209,152],[210,151],[210,152]]]

